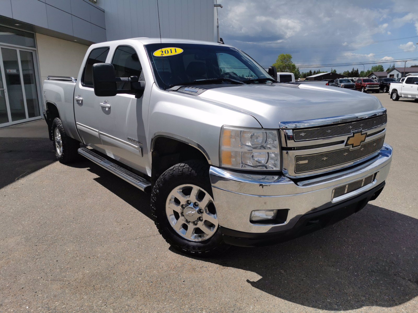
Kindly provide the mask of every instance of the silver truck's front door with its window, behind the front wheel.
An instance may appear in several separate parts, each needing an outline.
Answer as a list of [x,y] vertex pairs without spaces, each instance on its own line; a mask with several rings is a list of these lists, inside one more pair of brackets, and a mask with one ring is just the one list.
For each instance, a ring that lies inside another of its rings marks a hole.
[[[111,63],[116,77],[138,76],[143,80],[142,66],[135,49],[119,46],[115,49]],[[129,89],[130,83],[117,83],[118,89]],[[146,154],[143,117],[148,114],[148,105],[143,103],[150,93],[150,86],[144,95],[135,98],[130,94],[107,97],[100,105],[100,139],[103,149],[112,158],[130,167],[144,171],[148,159]],[[145,97],[144,97],[145,96]]]

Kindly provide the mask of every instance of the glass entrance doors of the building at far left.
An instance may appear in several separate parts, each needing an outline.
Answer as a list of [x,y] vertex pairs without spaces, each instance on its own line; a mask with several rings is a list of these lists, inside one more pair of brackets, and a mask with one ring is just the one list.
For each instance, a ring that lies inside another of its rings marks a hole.
[[33,51],[0,46],[0,127],[39,116]]

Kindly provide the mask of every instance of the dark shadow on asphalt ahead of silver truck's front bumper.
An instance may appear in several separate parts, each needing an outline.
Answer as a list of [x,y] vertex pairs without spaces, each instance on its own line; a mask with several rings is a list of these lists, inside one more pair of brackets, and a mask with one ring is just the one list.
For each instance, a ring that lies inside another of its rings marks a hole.
[[208,261],[257,273],[252,287],[311,308],[393,307],[418,295],[418,220],[368,204],[318,232]]

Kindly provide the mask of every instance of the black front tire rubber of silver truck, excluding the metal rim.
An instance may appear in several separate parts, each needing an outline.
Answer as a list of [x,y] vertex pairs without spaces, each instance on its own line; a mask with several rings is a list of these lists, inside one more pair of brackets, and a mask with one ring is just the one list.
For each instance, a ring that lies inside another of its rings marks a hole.
[[157,179],[151,193],[151,213],[158,231],[171,247],[188,255],[214,257],[226,252],[230,246],[224,242],[219,227],[209,239],[194,242],[178,235],[171,226],[166,215],[166,200],[170,192],[182,184],[203,188],[213,198],[209,166],[205,162],[190,160],[170,167]]

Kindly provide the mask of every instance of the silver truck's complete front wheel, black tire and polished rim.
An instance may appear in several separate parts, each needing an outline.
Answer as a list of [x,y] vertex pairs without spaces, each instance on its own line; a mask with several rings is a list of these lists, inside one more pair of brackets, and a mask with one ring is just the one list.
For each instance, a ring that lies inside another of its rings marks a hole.
[[170,167],[155,182],[151,212],[158,231],[176,250],[199,257],[225,252],[209,179],[209,167],[187,161]]

